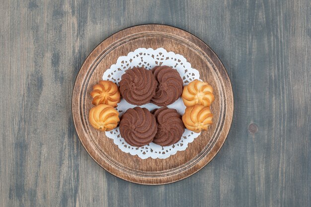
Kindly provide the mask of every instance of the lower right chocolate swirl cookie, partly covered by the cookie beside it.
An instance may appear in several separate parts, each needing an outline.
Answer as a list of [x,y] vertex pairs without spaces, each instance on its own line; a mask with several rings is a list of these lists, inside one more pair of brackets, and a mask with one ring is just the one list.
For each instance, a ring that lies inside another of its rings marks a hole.
[[180,140],[185,132],[181,115],[176,109],[162,107],[154,111],[157,122],[157,133],[154,143],[160,146],[169,146]]

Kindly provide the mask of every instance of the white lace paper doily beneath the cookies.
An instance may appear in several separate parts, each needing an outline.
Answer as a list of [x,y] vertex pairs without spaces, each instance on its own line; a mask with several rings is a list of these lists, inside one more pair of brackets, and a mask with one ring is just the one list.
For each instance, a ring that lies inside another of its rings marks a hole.
[[[182,55],[167,52],[163,48],[158,48],[156,50],[152,48],[138,48],[134,52],[130,52],[127,56],[119,57],[117,63],[104,72],[102,79],[111,80],[119,85],[119,81],[121,80],[121,76],[125,73],[125,70],[133,67],[145,67],[146,69],[152,69],[155,66],[169,66],[176,69],[182,77],[184,85],[187,85],[194,79],[200,79],[199,71],[191,68],[191,64],[188,63]],[[125,99],[122,99],[116,109],[119,111],[121,116],[127,109],[134,107],[135,105],[129,104],[125,101]],[[159,108],[152,103],[148,103],[140,107],[145,107],[150,111]],[[184,114],[186,108],[181,98],[167,107],[176,109],[181,115]],[[106,132],[106,136],[113,139],[113,142],[117,144],[123,152],[130,153],[131,155],[138,155],[142,159],[147,159],[148,157],[154,159],[167,158],[172,154],[176,154],[177,151],[185,150],[188,143],[192,142],[199,135],[200,133],[194,133],[186,129],[182,135],[182,138],[177,143],[170,146],[162,147],[155,143],[150,143],[142,147],[135,147],[124,141],[124,139],[120,136],[119,127],[112,131]]]

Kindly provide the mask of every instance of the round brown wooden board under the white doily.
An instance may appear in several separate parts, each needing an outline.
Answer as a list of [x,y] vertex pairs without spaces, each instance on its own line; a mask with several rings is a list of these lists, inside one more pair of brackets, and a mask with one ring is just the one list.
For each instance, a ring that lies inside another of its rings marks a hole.
[[[199,70],[200,78],[214,87],[211,106],[213,125],[201,133],[184,151],[166,159],[141,159],[121,151],[105,133],[94,130],[88,122],[92,107],[89,95],[102,74],[137,48],[164,48],[181,54]],[[75,127],[90,156],[105,170],[124,180],[159,185],[184,179],[209,163],[222,147],[233,117],[233,92],[230,79],[216,54],[194,35],[166,25],[140,25],[124,29],[100,43],[82,65],[72,100]]]

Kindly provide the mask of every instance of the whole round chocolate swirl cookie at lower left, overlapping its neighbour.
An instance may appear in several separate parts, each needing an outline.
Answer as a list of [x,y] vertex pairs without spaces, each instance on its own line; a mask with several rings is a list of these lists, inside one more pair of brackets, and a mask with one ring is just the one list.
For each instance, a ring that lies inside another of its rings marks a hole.
[[146,108],[128,109],[121,117],[120,135],[132,146],[144,146],[155,138],[155,116]]

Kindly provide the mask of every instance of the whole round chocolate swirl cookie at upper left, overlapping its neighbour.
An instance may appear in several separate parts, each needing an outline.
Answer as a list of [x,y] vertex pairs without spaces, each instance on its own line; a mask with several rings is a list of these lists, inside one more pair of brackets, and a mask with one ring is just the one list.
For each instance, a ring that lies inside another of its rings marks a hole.
[[134,105],[150,102],[156,94],[156,78],[144,67],[128,69],[121,77],[120,92],[123,98]]

